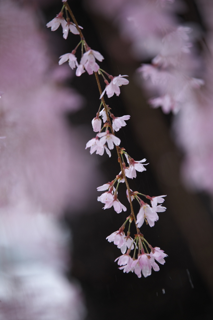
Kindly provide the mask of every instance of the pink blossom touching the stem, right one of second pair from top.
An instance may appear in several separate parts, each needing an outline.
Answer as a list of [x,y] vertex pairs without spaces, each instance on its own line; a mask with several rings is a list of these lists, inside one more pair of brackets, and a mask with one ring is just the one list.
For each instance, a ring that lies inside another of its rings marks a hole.
[[89,75],[92,75],[94,71],[97,72],[99,65],[95,62],[95,59],[102,61],[104,58],[100,52],[92,49],[85,52],[80,60],[80,65],[76,70],[76,76],[80,76],[84,72],[84,68]]

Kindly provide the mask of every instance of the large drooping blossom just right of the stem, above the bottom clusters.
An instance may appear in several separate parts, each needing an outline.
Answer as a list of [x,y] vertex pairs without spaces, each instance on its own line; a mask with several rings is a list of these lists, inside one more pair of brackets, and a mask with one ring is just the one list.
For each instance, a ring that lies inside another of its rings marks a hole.
[[136,223],[138,225],[138,228],[141,228],[145,218],[148,221],[150,227],[153,227],[155,225],[155,221],[159,219],[156,210],[151,208],[148,204],[143,204],[137,214]]

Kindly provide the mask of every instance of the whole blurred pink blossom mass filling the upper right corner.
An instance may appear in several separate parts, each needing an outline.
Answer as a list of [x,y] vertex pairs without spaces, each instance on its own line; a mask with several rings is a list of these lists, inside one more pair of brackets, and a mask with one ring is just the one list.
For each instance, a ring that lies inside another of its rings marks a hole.
[[[141,87],[151,98],[152,107],[176,114],[173,136],[183,153],[182,180],[189,189],[212,195],[212,1],[196,1],[207,30],[205,35],[199,25],[179,19],[177,13],[184,15],[189,10],[186,1],[85,0],[85,3],[92,12],[118,27],[134,59],[151,59],[151,65],[138,69],[143,74]],[[202,47],[201,54],[197,41]],[[121,49],[117,51],[122,54]]]

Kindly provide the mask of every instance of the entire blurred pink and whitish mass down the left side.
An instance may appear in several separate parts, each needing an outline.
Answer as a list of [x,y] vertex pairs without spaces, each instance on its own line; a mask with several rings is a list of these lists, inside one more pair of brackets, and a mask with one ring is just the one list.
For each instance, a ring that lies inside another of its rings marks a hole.
[[63,86],[72,70],[51,60],[30,3],[0,1],[0,31],[0,318],[80,320],[81,289],[65,277],[71,235],[58,217],[86,211],[98,185],[86,133],[65,117],[84,100]]

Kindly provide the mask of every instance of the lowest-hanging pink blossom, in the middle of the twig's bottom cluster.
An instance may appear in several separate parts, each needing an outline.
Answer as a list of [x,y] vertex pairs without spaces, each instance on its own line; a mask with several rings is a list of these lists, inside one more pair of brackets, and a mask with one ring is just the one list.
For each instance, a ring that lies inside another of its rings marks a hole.
[[139,278],[141,278],[141,271],[145,278],[150,276],[152,272],[152,265],[149,259],[149,254],[144,253],[139,255],[138,259],[133,261],[132,267],[134,267],[134,272]]

